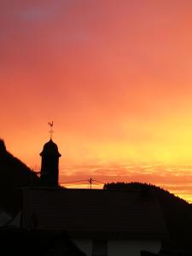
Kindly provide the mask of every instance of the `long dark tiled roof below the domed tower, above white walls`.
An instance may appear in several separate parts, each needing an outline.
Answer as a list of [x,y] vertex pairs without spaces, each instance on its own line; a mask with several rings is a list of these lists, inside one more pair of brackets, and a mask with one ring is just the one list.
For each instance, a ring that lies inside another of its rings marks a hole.
[[104,189],[26,189],[21,225],[73,236],[162,238],[166,228],[154,196]]

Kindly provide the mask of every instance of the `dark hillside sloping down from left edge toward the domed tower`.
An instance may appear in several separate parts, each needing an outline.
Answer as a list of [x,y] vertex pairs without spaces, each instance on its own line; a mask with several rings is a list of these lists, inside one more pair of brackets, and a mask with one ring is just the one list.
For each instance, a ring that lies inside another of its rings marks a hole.
[[21,188],[38,185],[40,178],[10,154],[0,139],[0,209],[14,215],[21,207]]

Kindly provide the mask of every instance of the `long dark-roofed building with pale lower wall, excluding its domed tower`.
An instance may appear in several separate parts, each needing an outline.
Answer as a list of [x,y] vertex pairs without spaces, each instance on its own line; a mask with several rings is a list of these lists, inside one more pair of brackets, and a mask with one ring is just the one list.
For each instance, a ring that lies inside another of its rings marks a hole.
[[86,256],[159,253],[168,236],[160,205],[141,191],[28,187],[21,211],[21,230],[66,231]]

